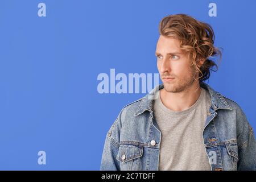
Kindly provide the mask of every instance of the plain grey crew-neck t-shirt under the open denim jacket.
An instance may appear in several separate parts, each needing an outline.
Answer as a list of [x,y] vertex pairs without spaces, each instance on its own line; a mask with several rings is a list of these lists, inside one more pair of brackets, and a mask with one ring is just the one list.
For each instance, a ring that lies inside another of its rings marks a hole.
[[174,111],[154,101],[154,116],[160,128],[159,170],[210,170],[203,143],[203,129],[210,108],[210,94],[201,88],[198,100],[188,109]]

